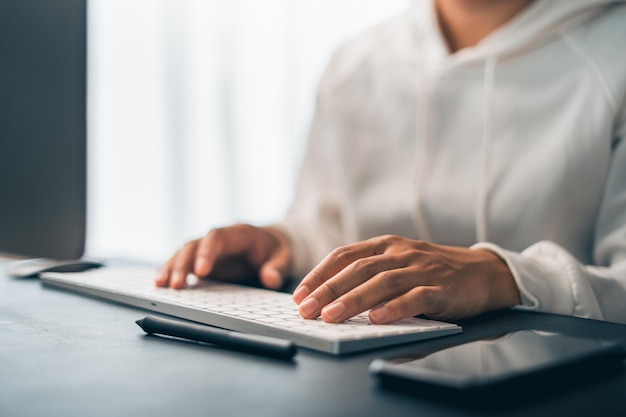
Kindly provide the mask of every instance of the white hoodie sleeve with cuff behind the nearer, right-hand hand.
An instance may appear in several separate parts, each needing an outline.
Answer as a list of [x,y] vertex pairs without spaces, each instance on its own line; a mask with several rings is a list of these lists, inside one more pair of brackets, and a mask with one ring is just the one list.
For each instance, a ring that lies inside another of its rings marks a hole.
[[491,243],[508,264],[522,297],[518,308],[626,323],[626,111],[618,123],[613,159],[594,239],[595,265],[583,265],[554,242],[521,253]]

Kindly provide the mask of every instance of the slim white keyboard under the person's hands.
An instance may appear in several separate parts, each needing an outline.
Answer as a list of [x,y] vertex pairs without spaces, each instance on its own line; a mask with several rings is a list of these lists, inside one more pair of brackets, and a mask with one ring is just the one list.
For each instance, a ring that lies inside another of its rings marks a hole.
[[456,324],[420,318],[372,324],[367,312],[339,324],[305,320],[290,294],[205,280],[182,290],[158,288],[155,276],[153,268],[125,267],[45,273],[41,279],[46,285],[225,329],[279,337],[332,354],[461,332]]

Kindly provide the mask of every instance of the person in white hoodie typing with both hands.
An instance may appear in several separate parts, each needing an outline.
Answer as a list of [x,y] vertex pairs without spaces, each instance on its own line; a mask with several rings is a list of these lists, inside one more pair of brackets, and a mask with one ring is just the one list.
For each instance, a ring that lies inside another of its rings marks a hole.
[[337,50],[278,225],[161,269],[252,268],[305,318],[517,307],[626,323],[626,5],[416,0]]

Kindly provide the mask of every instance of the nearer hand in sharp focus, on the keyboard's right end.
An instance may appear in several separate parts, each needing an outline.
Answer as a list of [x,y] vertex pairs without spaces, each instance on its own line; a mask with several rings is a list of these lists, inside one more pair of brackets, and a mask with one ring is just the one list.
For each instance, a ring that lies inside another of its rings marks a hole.
[[373,323],[420,314],[454,320],[521,302],[494,252],[399,236],[335,249],[304,277],[293,300],[302,317],[333,323],[368,309]]

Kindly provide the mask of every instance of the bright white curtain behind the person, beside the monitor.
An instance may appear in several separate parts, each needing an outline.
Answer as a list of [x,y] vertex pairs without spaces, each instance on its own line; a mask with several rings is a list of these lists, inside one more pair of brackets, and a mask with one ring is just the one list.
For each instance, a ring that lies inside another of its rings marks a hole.
[[407,0],[90,0],[87,255],[279,220],[332,50]]

